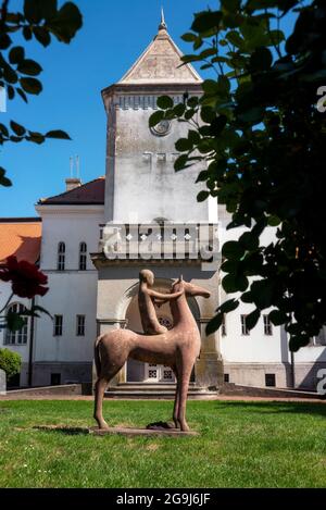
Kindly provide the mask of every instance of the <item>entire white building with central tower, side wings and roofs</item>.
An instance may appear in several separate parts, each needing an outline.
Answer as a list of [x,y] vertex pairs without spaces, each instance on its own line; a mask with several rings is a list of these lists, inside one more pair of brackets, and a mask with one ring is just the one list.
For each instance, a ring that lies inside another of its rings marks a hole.
[[[84,185],[67,179],[63,194],[38,202],[37,220],[0,221],[0,261],[12,253],[38,260],[49,276],[49,293],[36,301],[51,312],[53,323],[45,315],[33,323],[29,320],[22,333],[0,331],[0,346],[23,357],[23,386],[91,381],[97,334],[116,327],[141,331],[137,290],[139,269],[145,266],[154,272],[155,286],[163,291],[168,291],[179,274],[211,291],[209,300],[190,301],[202,332],[202,351],[193,373],[198,386],[220,386],[223,380],[291,386],[288,339],[268,322],[268,311],[248,332],[246,314],[252,307],[241,304],[226,316],[221,331],[210,337],[204,334],[218,303],[228,297],[221,287],[218,265],[210,264],[193,241],[204,231],[206,245],[214,246],[217,235],[221,246],[229,236],[237,238],[240,229],[226,231],[229,219],[213,199],[197,202],[202,186],[195,184],[199,167],[174,172],[175,141],[186,136],[188,127],[176,122],[148,127],[158,97],[168,95],[177,103],[185,92],[201,94],[200,76],[191,65],[179,67],[179,58],[162,22],[154,40],[127,74],[102,91],[108,115],[105,177]],[[161,232],[163,222],[167,233]],[[141,241],[149,246],[149,236],[154,234],[151,249],[155,254],[146,260],[140,254]],[[108,258],[103,251],[110,236],[111,248],[120,257]],[[272,239],[273,228],[264,236],[262,242]],[[186,251],[179,254],[185,241]],[[162,257],[163,251],[167,256]],[[10,286],[0,283],[0,293],[2,308]],[[14,299],[9,306],[18,304],[30,303]],[[162,323],[172,325],[167,304],[158,313]],[[317,370],[326,366],[324,346],[321,335],[294,356],[297,386],[315,388]],[[171,381],[168,369],[131,360],[113,384]]]

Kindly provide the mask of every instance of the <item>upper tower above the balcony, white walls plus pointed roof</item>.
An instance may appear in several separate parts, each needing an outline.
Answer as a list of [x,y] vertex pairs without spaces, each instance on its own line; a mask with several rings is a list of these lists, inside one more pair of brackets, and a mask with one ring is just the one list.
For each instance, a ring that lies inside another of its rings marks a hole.
[[[184,94],[199,96],[202,80],[190,64],[181,65],[181,52],[167,33],[162,12],[159,32],[141,57],[102,97],[108,114],[106,222],[150,223],[209,221],[209,202],[198,203],[199,167],[176,173],[175,142],[189,126],[162,121],[149,128],[160,96],[183,102]],[[212,214],[212,212],[211,212]]]

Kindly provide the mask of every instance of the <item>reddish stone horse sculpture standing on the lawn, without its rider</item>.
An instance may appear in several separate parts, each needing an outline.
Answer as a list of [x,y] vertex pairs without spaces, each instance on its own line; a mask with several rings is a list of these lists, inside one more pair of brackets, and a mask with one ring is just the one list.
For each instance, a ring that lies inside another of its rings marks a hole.
[[200,353],[201,337],[198,325],[187,302],[187,297],[210,297],[202,287],[179,278],[173,285],[173,293],[183,294],[171,301],[174,326],[161,335],[141,335],[129,329],[114,329],[98,337],[95,345],[97,382],[95,387],[95,414],[100,428],[109,427],[103,419],[102,403],[110,381],[123,368],[128,358],[164,364],[176,376],[176,393],[173,411],[175,427],[189,431],[186,421],[186,403],[191,372]]

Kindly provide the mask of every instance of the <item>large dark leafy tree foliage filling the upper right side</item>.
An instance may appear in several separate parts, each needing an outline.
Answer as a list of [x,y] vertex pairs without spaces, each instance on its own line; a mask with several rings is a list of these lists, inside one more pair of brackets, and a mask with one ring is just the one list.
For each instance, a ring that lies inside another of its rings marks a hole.
[[[286,39],[288,15],[296,25]],[[296,351],[326,323],[326,116],[318,98],[326,90],[325,2],[222,0],[218,11],[195,14],[183,38],[193,45],[184,64],[200,62],[216,79],[203,82],[200,98],[186,94],[183,104],[162,98],[150,124],[191,125],[176,144],[175,170],[205,163],[198,182],[208,189],[198,200],[216,197],[231,215],[228,228],[246,227],[222,251],[223,287],[240,298],[223,303],[206,331],[241,300],[254,304],[250,327],[272,308],[271,321],[285,324]],[[261,246],[268,226],[276,240]]]

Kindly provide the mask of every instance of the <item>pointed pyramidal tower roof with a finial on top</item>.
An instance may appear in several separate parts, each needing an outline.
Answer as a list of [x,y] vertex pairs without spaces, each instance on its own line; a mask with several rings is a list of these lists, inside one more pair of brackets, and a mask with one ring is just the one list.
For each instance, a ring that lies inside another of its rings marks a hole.
[[183,52],[167,33],[162,9],[158,35],[118,85],[141,84],[201,84],[202,79],[191,64],[181,65]]

